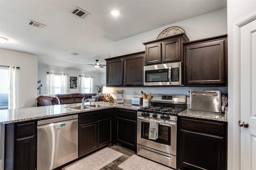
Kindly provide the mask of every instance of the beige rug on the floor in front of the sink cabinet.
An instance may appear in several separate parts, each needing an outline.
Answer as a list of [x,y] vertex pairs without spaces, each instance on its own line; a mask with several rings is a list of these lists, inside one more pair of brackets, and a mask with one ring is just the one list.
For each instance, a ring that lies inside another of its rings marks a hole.
[[62,170],[99,170],[122,155],[116,150],[105,148],[62,168]]

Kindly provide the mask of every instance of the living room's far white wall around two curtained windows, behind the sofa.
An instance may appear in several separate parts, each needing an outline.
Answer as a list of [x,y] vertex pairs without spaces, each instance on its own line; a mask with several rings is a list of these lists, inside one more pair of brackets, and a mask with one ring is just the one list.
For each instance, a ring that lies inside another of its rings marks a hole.
[[[77,71],[77,70],[68,70],[68,69],[63,69],[63,68],[52,68],[49,66],[42,66],[42,65],[38,65],[38,80],[41,81],[42,87],[41,87],[41,94],[47,94],[47,80],[48,80],[48,74],[47,72],[55,72],[55,73],[64,73],[64,74],[68,74],[68,80],[70,80],[70,76],[72,77],[77,77],[78,81],[77,81],[77,88],[69,88],[68,87],[68,94],[71,93],[80,93],[79,91],[79,75],[84,75],[84,76],[94,76],[94,89],[93,92],[98,94],[97,88],[95,86],[99,85],[99,84],[103,84],[102,81],[102,74],[98,73],[98,72],[84,72],[84,71]],[[106,84],[106,74],[105,75],[105,81],[104,84]],[[104,77],[103,77],[104,78]],[[38,92],[39,95],[39,92]]]

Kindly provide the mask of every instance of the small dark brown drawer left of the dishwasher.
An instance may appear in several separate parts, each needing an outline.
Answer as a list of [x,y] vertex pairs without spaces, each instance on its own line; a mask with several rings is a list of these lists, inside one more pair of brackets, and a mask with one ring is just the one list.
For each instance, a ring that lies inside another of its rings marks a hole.
[[16,124],[16,139],[35,135],[35,122]]

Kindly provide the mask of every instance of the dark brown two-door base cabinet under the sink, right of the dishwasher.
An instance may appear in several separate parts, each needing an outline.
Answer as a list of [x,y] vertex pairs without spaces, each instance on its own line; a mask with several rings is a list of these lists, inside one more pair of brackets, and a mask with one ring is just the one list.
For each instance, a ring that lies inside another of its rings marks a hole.
[[79,115],[78,155],[83,156],[112,145],[113,110],[105,109]]

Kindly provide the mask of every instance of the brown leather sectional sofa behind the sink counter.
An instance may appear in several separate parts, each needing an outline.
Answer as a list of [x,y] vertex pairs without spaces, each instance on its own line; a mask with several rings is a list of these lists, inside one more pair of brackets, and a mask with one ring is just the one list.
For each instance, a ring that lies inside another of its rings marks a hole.
[[[73,93],[73,94],[56,94],[56,96],[38,96],[39,106],[50,106],[56,104],[73,104],[81,103],[82,99],[91,99],[92,96],[96,96],[96,93]],[[60,102],[58,102],[58,100]],[[98,102],[103,101],[103,96],[98,96]]]

